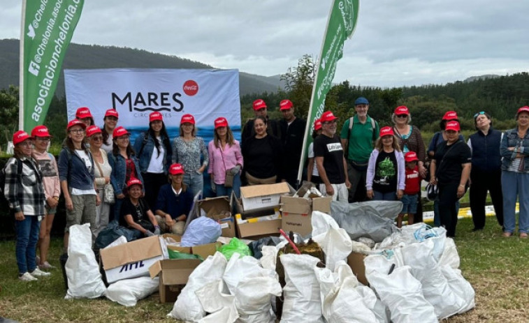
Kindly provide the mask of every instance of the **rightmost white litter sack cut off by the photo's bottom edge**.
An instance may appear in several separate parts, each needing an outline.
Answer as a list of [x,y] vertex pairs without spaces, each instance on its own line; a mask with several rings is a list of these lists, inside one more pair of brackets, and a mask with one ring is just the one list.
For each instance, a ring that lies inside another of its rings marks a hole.
[[410,272],[410,266],[401,266],[391,274],[382,271],[366,272],[368,281],[388,306],[391,322],[438,322],[433,306],[424,299],[421,283]]

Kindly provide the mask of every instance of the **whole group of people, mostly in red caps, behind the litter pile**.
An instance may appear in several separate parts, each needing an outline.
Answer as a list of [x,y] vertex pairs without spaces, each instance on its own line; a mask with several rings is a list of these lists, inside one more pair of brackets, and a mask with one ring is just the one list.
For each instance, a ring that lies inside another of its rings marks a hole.
[[[504,236],[514,233],[519,196],[519,234],[527,237],[529,107],[518,110],[516,128],[504,134],[492,128],[486,112],[475,114],[477,132],[467,144],[456,112],[447,112],[426,151],[419,128],[410,124],[407,107],[396,108],[393,126],[380,128],[368,115],[366,98],[358,98],[354,105],[356,114],[345,121],[339,136],[333,112],[324,112],[314,121],[307,179],[319,184],[322,193],[341,202],[401,200],[400,226],[405,214],[409,224],[422,220],[420,182],[426,179],[439,190],[435,224],[444,225],[447,235],[455,236],[458,199],[472,183],[474,230],[484,227],[484,204],[490,191]],[[116,110],[106,111],[99,128],[89,109],[81,107],[66,126],[58,162],[47,151],[48,128],[37,126],[31,135],[17,131],[14,156],[4,168],[4,195],[16,220],[20,279],[50,274],[44,270],[52,268],[47,259],[50,230],[61,193],[67,252],[68,228],[82,223],[90,224],[94,241],[110,220],[131,230],[135,238],[182,234],[194,195],[203,190],[206,171],[217,196],[233,191],[239,197],[243,184],[287,181],[296,186],[306,121],[295,116],[290,100],[280,103],[280,121],[268,118],[261,99],[254,101],[253,108],[255,118],[243,127],[241,144],[228,121],[219,117],[206,147],[196,135],[191,114],[182,116],[180,134],[171,142],[163,116],[152,112],[148,130],[131,144],[130,133],[117,126]],[[37,246],[40,257],[36,257]]]

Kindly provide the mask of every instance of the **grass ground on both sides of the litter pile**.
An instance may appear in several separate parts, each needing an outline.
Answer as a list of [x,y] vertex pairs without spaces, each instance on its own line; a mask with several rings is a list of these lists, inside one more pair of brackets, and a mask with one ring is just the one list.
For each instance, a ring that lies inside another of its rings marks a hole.
[[[471,232],[472,220],[458,224],[456,245],[461,270],[474,290],[476,308],[444,322],[529,322],[529,239],[503,238],[495,219]],[[50,262],[59,265],[62,241],[52,239]],[[15,241],[0,241],[0,316],[20,322],[177,322],[166,315],[172,303],[157,294],[126,308],[106,298],[66,301],[60,269],[50,278],[17,279]]]

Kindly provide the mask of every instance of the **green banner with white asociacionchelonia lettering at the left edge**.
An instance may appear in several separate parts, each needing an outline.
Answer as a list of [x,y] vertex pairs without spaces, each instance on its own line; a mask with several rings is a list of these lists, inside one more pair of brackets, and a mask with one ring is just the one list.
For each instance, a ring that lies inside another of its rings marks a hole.
[[85,0],[24,0],[20,36],[19,128],[44,123]]

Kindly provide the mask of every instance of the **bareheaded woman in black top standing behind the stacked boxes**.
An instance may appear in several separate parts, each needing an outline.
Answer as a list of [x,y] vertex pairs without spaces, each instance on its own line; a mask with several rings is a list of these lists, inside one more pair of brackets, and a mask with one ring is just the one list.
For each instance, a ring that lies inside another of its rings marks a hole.
[[266,133],[266,118],[254,120],[254,137],[242,145],[242,158],[245,160],[245,174],[248,185],[272,184],[282,178],[281,140]]

